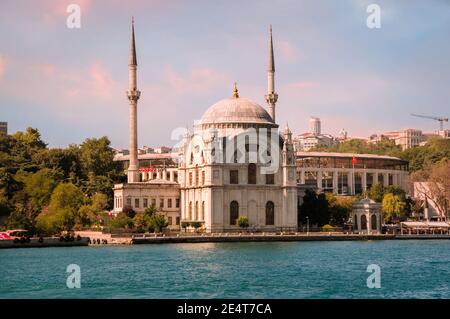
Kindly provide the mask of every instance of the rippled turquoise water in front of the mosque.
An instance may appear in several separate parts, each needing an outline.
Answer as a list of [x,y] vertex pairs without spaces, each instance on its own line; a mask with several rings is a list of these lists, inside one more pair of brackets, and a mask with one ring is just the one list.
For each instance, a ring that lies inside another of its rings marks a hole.
[[446,240],[11,249],[0,266],[0,298],[450,298]]

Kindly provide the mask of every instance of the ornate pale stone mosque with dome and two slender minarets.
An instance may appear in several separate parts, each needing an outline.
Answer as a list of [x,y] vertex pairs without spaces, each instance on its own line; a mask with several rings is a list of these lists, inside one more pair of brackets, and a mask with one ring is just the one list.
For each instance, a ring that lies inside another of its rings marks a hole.
[[[292,133],[275,121],[275,60],[272,29],[267,69],[267,110],[241,97],[208,108],[178,148],[177,166],[158,172],[139,169],[137,152],[137,58],[134,21],[129,60],[130,154],[127,183],[114,186],[114,212],[154,205],[172,230],[201,225],[206,232],[239,229],[248,218],[255,231],[297,229],[299,189]],[[149,178],[151,175],[151,178]]]

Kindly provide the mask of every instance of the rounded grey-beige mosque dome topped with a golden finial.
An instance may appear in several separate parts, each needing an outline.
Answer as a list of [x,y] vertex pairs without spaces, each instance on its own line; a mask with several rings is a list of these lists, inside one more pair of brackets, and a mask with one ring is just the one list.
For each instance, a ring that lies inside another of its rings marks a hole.
[[239,97],[237,88],[233,96],[213,104],[203,114],[201,124],[249,123],[276,126],[271,116],[258,103]]

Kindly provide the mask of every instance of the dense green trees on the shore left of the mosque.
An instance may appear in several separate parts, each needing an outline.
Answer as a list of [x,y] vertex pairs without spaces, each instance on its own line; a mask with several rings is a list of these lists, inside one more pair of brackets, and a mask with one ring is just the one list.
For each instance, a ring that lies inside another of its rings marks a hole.
[[107,137],[49,148],[39,130],[0,135],[0,221],[45,234],[101,223],[126,176]]

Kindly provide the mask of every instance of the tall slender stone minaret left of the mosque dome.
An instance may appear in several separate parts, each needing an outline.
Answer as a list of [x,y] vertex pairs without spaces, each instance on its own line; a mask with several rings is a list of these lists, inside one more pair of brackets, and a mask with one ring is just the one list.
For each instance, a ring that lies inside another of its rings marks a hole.
[[137,183],[139,179],[139,161],[137,156],[137,101],[141,92],[137,90],[137,59],[134,41],[134,18],[131,21],[130,63],[128,64],[127,91],[130,112],[130,165],[128,166],[128,183]]

